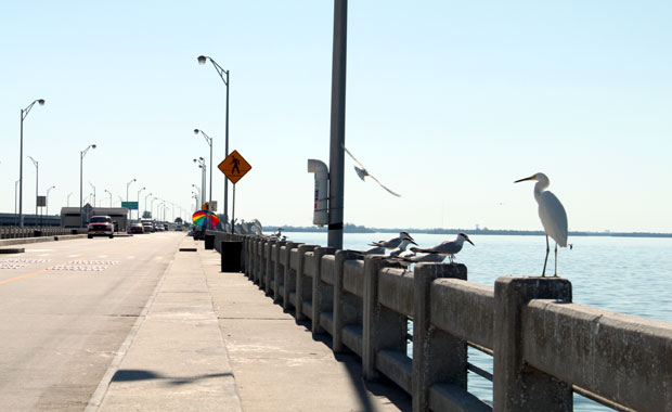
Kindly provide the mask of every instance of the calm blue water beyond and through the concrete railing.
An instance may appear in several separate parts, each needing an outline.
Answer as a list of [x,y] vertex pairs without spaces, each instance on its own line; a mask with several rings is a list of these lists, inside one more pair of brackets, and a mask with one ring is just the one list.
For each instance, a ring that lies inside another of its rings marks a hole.
[[[293,242],[326,245],[324,233],[284,233]],[[366,249],[372,241],[393,233],[346,233],[344,248]],[[432,246],[454,235],[411,235],[422,247]],[[455,261],[468,268],[470,282],[490,287],[499,276],[540,275],[545,254],[544,236],[469,236]],[[570,237],[573,248],[558,250],[558,275],[572,283],[573,302],[621,313],[672,322],[672,239]],[[553,274],[553,250],[546,274]],[[492,373],[492,358],[469,348],[469,362]],[[469,372],[469,391],[492,402],[492,383]],[[574,395],[576,411],[611,411]]]

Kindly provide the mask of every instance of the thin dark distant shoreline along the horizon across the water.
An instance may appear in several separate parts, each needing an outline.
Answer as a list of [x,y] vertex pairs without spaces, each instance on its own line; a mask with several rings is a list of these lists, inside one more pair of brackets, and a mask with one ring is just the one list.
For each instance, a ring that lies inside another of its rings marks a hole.
[[[295,227],[295,226],[267,226],[264,232],[275,232],[282,228],[284,232],[308,232],[326,233],[326,228],[316,227]],[[345,233],[399,233],[405,230],[409,233],[429,233],[429,234],[457,234],[465,232],[478,235],[516,235],[516,236],[543,236],[541,230],[502,230],[502,229],[414,229],[414,228],[367,228],[356,224],[345,224]],[[603,236],[603,237],[672,237],[672,233],[654,232],[569,232],[570,236]]]

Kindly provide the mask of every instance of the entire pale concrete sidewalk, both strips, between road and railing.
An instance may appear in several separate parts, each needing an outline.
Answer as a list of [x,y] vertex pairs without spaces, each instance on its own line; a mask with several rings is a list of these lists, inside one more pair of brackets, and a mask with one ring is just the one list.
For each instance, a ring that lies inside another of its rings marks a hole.
[[[186,237],[91,398],[95,411],[410,411],[398,387],[312,338]],[[222,339],[223,337],[223,339]]]

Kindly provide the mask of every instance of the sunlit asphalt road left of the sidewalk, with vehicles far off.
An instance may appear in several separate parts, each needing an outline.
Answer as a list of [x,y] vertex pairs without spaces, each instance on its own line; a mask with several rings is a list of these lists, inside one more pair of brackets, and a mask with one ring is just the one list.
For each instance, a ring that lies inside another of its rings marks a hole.
[[0,255],[0,411],[82,411],[183,239],[82,239]]

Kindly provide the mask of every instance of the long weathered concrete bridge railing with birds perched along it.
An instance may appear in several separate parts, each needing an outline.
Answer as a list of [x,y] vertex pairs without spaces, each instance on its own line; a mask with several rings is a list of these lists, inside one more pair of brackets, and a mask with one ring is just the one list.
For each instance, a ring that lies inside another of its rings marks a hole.
[[[380,256],[216,236],[243,242],[253,282],[332,335],[334,351],[359,355],[366,378],[409,392],[414,411],[572,411],[574,391],[623,411],[672,405],[672,324],[572,304],[566,279],[503,276],[492,288],[458,263],[408,271]],[[468,362],[468,346],[493,357],[493,374]],[[469,392],[467,371],[492,381],[492,407]]]

